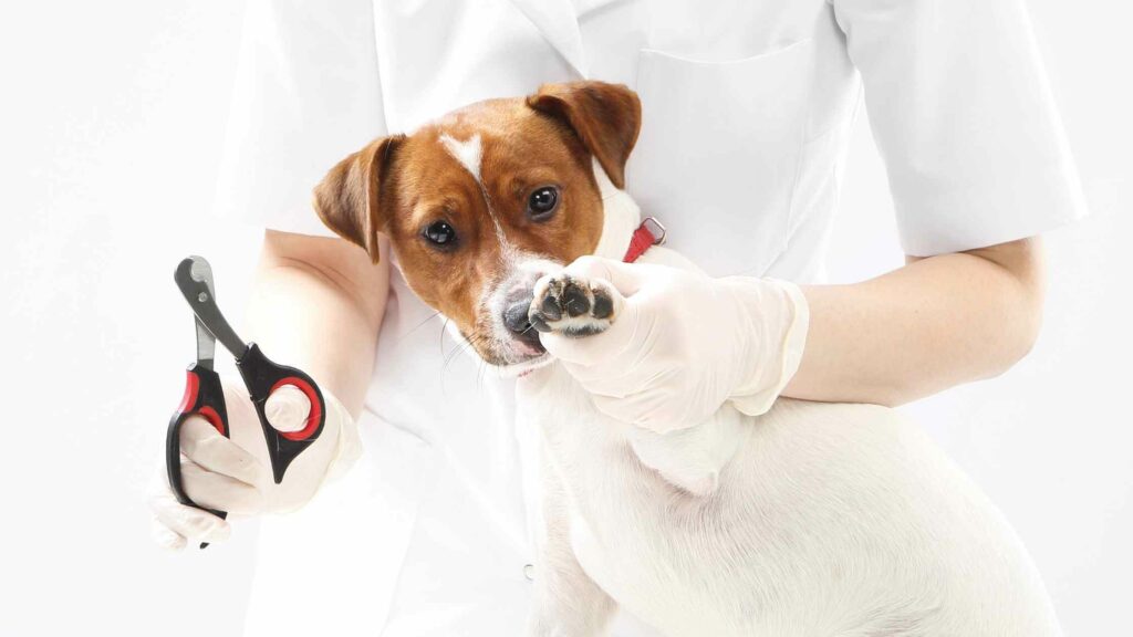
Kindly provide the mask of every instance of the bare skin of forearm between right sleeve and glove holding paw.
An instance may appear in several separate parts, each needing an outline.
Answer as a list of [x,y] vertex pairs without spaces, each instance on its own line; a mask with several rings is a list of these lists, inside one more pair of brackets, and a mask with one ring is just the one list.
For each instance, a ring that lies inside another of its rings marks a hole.
[[803,287],[807,346],[783,394],[894,406],[997,375],[1033,345],[1042,290],[1037,239]]

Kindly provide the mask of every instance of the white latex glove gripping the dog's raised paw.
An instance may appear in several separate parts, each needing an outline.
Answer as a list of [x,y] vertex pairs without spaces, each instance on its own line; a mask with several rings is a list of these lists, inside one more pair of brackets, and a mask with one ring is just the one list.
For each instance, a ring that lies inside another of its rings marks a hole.
[[704,422],[729,400],[758,416],[799,368],[809,313],[794,283],[599,257],[565,272],[623,295],[606,331],[539,337],[619,421],[664,433]]

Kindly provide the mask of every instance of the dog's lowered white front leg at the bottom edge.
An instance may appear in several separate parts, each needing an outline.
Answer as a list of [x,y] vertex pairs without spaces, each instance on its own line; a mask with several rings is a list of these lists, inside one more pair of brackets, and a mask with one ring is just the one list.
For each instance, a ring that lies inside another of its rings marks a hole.
[[535,564],[529,637],[599,637],[617,609],[574,557],[568,498],[544,449],[543,518]]

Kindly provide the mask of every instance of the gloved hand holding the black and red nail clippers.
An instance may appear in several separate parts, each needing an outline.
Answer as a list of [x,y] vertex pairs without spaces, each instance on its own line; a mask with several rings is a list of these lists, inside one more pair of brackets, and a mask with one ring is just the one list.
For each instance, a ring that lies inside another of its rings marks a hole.
[[[230,379],[222,384],[232,438],[222,436],[197,416],[181,426],[182,484],[189,499],[202,507],[235,515],[292,511],[306,504],[327,477],[346,470],[359,456],[361,445],[353,418],[323,389],[323,432],[291,462],[283,482],[275,484],[264,433],[247,390]],[[267,397],[264,411],[276,430],[299,431],[310,413],[310,401],[298,389],[284,385]],[[165,475],[164,453],[160,469],[150,489],[154,542],[180,549],[188,540],[225,540],[230,533],[228,521],[177,501]]]

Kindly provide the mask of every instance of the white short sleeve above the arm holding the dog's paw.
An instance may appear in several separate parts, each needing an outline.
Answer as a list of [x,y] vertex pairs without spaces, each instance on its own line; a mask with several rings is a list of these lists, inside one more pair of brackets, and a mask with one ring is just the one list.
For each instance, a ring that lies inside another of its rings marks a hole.
[[1038,235],[1085,213],[1023,0],[833,0],[906,254]]

